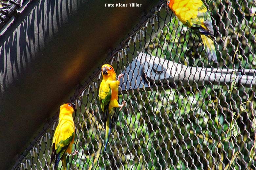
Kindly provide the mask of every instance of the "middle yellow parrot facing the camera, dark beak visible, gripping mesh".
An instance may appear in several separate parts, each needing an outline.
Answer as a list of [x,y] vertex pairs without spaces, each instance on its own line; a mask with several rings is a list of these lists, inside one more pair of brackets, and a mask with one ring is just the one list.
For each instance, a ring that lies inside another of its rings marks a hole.
[[102,71],[102,81],[99,87],[99,101],[101,110],[104,113],[104,124],[106,126],[106,143],[105,149],[107,148],[108,139],[111,133],[111,113],[113,108],[120,107],[119,111],[125,105],[125,101],[121,105],[118,104],[118,87],[120,84],[120,78],[123,77],[123,74],[118,75],[118,80],[116,78],[116,72],[114,68],[109,64],[104,64],[101,67]]

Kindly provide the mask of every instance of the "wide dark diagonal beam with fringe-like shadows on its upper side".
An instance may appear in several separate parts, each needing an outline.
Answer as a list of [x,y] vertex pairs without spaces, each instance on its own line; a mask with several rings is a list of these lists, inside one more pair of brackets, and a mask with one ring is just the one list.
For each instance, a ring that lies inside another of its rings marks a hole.
[[106,51],[126,37],[142,12],[157,3],[139,0],[141,8],[118,8],[105,7],[104,2],[33,1],[1,36],[2,169],[11,167],[15,155],[75,85],[107,58]]

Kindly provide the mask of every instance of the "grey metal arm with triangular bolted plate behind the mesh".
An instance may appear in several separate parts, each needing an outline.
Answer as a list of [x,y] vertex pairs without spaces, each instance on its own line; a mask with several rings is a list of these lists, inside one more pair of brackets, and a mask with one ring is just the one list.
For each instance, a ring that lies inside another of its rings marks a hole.
[[[165,86],[202,86],[207,84],[231,85],[233,81],[244,87],[256,85],[256,70],[244,69],[247,75],[238,74],[238,70],[191,67],[173,61],[140,53],[124,71],[121,91],[147,87]],[[235,74],[234,74],[235,73]],[[153,86],[152,86],[153,85]]]

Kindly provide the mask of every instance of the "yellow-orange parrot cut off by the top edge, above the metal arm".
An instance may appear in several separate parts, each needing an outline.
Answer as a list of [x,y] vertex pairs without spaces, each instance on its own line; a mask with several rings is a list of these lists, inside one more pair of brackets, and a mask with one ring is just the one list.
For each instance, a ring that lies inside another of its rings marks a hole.
[[189,28],[198,32],[203,41],[209,61],[218,63],[211,36],[214,36],[211,16],[201,0],[169,0],[167,5]]

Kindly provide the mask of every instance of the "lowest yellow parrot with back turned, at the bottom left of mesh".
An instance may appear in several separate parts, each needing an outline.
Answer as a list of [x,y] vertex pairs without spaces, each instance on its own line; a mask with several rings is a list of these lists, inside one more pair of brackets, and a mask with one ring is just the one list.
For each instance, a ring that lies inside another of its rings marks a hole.
[[[75,124],[72,117],[74,109],[71,103],[60,106],[59,123],[55,129],[53,136],[52,156],[50,165],[55,159],[54,168],[57,169],[59,161],[61,160],[63,170],[67,170],[66,153],[71,154],[72,146],[75,139]],[[77,154],[75,150],[73,156]]]

